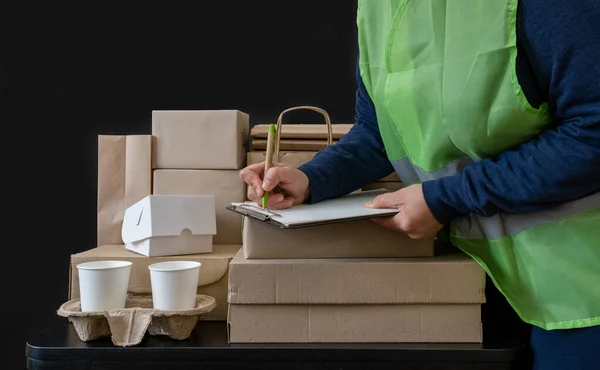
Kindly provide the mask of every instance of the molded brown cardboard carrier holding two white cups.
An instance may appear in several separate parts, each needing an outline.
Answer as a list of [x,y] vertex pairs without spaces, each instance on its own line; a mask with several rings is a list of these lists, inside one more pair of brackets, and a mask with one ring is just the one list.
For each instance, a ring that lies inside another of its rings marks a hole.
[[162,311],[152,308],[151,298],[130,298],[123,309],[81,312],[81,302],[74,299],[62,304],[57,313],[69,318],[82,341],[110,336],[114,345],[127,347],[139,344],[146,332],[186,339],[200,315],[210,312],[215,305],[213,297],[198,295],[194,309]]

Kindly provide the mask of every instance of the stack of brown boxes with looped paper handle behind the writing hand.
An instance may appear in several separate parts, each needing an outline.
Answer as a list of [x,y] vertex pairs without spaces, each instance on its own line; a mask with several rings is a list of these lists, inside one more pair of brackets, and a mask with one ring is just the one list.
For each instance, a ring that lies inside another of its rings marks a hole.
[[[295,110],[311,110],[320,113],[325,119],[325,125],[296,123],[283,126],[284,115]],[[327,111],[318,107],[300,106],[286,109],[277,119],[277,140],[273,161],[298,167],[310,161],[319,150],[337,143],[352,127],[353,124],[332,123]],[[261,163],[265,160],[268,129],[268,124],[252,127],[250,132],[252,147],[248,152],[248,164]],[[382,188],[398,190],[402,188],[402,182],[395,173],[392,173],[372,184],[365,185],[361,190]]]

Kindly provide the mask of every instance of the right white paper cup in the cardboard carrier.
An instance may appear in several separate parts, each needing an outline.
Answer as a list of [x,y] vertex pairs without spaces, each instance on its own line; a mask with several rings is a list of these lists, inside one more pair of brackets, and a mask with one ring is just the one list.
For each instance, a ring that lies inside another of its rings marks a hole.
[[195,308],[200,265],[192,261],[167,261],[148,266],[154,308],[168,311]]

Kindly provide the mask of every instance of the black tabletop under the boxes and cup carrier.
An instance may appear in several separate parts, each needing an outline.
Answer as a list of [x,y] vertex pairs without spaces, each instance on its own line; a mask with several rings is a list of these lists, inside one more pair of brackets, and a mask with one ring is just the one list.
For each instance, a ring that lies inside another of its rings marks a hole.
[[28,369],[453,369],[519,368],[526,347],[483,344],[229,344],[225,322],[200,322],[184,341],[146,336],[134,347],[82,342],[66,320],[26,344]]

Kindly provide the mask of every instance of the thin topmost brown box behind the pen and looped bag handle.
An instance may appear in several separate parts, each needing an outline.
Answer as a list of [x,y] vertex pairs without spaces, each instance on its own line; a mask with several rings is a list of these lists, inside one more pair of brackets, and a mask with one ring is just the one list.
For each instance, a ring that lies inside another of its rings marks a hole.
[[[333,139],[340,139],[346,135],[354,126],[348,123],[336,123],[331,125]],[[269,132],[269,125],[256,125],[252,127],[250,136],[256,139],[266,139]],[[323,124],[285,124],[281,129],[281,139],[327,139],[327,126]]]

